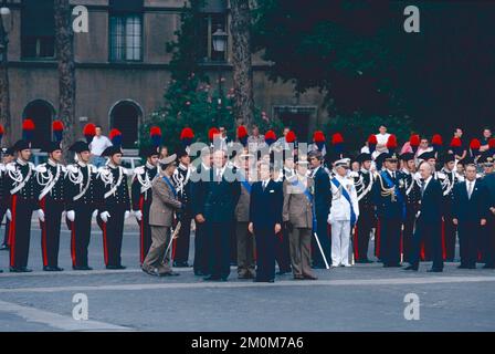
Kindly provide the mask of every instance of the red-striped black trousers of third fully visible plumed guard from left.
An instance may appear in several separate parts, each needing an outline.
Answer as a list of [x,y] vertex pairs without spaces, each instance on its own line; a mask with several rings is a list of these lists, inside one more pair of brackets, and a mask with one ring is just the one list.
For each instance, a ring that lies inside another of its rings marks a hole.
[[91,219],[95,208],[89,205],[76,205],[75,219],[66,219],[71,230],[71,257],[72,267],[87,267],[87,248],[91,240]]

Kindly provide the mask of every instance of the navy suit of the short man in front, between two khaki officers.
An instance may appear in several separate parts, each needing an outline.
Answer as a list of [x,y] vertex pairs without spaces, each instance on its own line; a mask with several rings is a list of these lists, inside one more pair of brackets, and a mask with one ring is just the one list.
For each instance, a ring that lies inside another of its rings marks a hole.
[[282,186],[270,180],[263,190],[257,181],[251,188],[250,222],[256,237],[256,281],[275,278],[275,225],[282,226],[284,195]]

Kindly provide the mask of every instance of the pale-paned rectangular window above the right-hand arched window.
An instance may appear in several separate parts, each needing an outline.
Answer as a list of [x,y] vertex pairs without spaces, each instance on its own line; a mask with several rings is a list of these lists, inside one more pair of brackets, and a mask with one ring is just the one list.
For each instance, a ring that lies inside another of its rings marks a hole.
[[140,61],[143,53],[141,15],[110,17],[110,61]]

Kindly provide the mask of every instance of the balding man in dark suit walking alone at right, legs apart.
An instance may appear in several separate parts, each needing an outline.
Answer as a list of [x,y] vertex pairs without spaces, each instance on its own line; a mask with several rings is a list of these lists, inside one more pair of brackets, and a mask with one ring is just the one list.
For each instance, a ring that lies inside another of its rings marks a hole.
[[417,214],[413,236],[411,266],[406,270],[417,271],[420,263],[421,242],[429,239],[432,246],[433,266],[429,272],[443,271],[442,254],[442,201],[443,191],[440,181],[432,177],[433,168],[426,162],[420,165],[421,204]]

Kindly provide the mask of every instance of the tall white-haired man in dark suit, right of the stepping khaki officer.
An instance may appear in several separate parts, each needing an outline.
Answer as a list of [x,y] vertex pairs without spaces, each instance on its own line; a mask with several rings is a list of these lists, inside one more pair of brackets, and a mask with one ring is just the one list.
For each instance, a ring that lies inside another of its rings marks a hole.
[[204,194],[204,219],[209,243],[209,273],[204,280],[227,281],[230,274],[230,238],[241,194],[235,170],[227,167],[224,150],[213,153],[213,168]]

